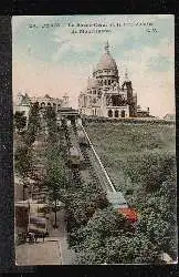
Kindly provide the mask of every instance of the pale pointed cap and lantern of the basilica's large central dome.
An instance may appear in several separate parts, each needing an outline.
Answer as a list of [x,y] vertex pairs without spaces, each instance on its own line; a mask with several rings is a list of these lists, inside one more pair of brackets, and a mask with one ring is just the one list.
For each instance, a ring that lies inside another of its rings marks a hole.
[[109,50],[108,42],[105,45],[105,53],[102,55],[99,62],[97,63],[96,70],[115,70],[117,71],[117,64],[115,60],[112,58]]

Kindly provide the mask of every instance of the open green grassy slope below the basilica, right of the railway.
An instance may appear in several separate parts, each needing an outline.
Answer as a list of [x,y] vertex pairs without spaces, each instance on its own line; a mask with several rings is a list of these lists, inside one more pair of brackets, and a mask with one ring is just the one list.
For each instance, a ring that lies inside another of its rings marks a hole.
[[115,187],[124,193],[138,183],[149,179],[155,183],[162,170],[165,174],[172,171],[176,140],[172,124],[92,122],[86,124],[86,131]]

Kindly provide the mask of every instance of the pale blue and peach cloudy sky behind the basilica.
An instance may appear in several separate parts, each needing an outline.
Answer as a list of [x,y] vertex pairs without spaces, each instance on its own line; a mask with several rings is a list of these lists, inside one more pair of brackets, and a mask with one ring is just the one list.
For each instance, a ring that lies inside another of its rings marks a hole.
[[[96,25],[83,28],[78,23]],[[173,17],[165,14],[13,17],[13,95],[27,92],[62,98],[67,93],[71,105],[77,107],[77,95],[86,86],[108,40],[120,82],[127,68],[138,104],[149,106],[156,116],[173,113]],[[82,29],[109,32],[78,33]]]

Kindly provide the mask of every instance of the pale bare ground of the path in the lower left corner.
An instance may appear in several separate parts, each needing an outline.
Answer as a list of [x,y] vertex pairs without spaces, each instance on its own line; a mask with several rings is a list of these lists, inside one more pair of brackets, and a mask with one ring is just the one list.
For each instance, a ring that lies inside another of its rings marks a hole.
[[50,236],[43,242],[19,245],[15,247],[15,260],[19,266],[35,265],[73,265],[75,253],[69,249],[64,211],[57,212],[57,228],[54,229],[54,213],[51,213],[49,220]]

